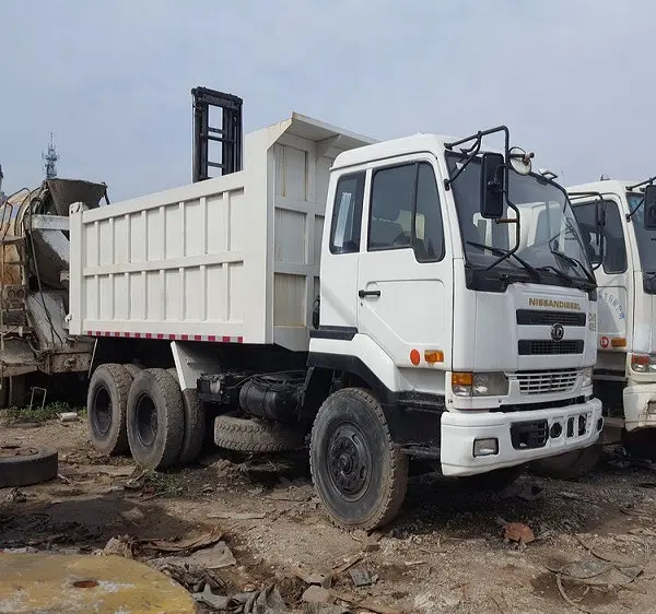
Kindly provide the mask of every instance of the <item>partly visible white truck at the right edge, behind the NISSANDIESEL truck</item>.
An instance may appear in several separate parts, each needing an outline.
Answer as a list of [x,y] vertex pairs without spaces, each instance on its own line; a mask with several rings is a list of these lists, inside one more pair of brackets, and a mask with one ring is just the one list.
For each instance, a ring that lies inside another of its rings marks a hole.
[[[656,186],[599,180],[569,188],[598,284],[595,394],[609,440],[656,460]],[[601,233],[599,233],[601,228]]]

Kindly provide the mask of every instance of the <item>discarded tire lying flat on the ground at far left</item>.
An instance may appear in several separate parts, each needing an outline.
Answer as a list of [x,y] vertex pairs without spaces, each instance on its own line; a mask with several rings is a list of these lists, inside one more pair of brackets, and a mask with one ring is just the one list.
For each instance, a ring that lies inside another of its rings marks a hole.
[[57,473],[54,448],[0,445],[0,488],[38,484],[52,480]]

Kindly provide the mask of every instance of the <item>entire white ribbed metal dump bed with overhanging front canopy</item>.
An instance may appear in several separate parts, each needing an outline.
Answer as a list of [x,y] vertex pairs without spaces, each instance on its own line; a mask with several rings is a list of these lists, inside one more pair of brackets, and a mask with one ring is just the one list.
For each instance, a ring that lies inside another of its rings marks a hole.
[[372,143],[293,114],[245,139],[244,170],[70,213],[70,331],[308,345],[329,170]]

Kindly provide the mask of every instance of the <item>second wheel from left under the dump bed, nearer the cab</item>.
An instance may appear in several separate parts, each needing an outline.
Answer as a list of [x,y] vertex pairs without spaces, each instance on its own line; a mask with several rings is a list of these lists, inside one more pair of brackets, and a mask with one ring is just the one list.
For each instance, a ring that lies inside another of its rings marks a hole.
[[185,434],[183,393],[165,369],[144,369],[130,387],[128,441],[133,459],[148,469],[166,469],[180,454]]

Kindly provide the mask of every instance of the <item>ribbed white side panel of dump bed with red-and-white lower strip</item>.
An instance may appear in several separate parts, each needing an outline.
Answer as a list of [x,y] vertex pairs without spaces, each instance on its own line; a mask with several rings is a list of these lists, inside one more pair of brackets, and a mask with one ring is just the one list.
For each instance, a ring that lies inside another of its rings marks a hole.
[[72,211],[71,331],[262,342],[245,311],[247,269],[258,265],[246,182],[242,172]]

